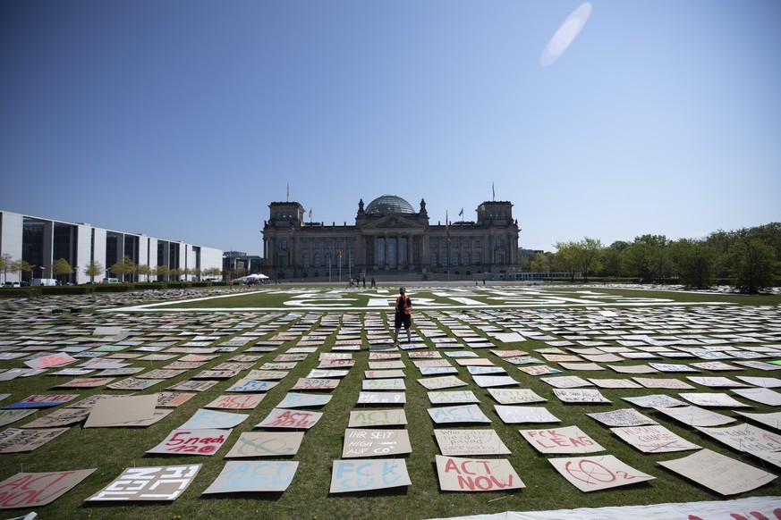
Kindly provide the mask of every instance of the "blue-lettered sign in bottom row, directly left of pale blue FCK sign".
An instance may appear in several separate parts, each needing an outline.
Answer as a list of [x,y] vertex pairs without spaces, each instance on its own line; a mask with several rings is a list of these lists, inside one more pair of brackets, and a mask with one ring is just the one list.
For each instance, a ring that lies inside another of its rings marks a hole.
[[203,494],[285,491],[296,470],[298,462],[231,461]]

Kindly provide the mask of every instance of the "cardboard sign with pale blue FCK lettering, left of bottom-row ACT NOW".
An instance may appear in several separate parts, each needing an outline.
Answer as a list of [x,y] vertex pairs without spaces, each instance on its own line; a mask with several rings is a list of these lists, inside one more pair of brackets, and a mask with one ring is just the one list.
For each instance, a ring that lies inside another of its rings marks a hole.
[[335,460],[331,493],[353,493],[410,486],[403,458]]

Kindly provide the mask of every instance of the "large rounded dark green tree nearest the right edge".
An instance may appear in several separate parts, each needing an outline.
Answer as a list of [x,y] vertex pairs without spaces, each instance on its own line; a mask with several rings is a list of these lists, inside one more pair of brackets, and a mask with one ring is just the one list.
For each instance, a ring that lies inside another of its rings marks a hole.
[[760,239],[746,238],[736,242],[731,248],[727,264],[738,289],[757,293],[773,283],[776,252]]

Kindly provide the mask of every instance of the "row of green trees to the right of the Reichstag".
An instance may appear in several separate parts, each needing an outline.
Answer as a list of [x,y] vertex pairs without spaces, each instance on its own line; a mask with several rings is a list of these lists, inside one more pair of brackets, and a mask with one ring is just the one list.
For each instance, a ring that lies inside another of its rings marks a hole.
[[667,239],[665,235],[641,235],[631,242],[601,240],[556,242],[556,252],[540,253],[522,264],[531,273],[580,273],[589,277],[634,278],[668,281],[706,289],[717,281],[729,282],[743,292],[771,287],[781,275],[781,222],[714,231],[704,239]]

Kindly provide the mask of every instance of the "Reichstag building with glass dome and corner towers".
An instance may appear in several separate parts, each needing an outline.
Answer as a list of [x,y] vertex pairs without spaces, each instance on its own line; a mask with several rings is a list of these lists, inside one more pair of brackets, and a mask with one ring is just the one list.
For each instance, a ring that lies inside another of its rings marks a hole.
[[343,280],[395,277],[445,280],[514,278],[518,264],[518,221],[513,204],[487,201],[477,221],[429,223],[402,197],[383,195],[364,207],[355,224],[306,222],[298,202],[272,202],[263,224],[263,257],[272,278]]

